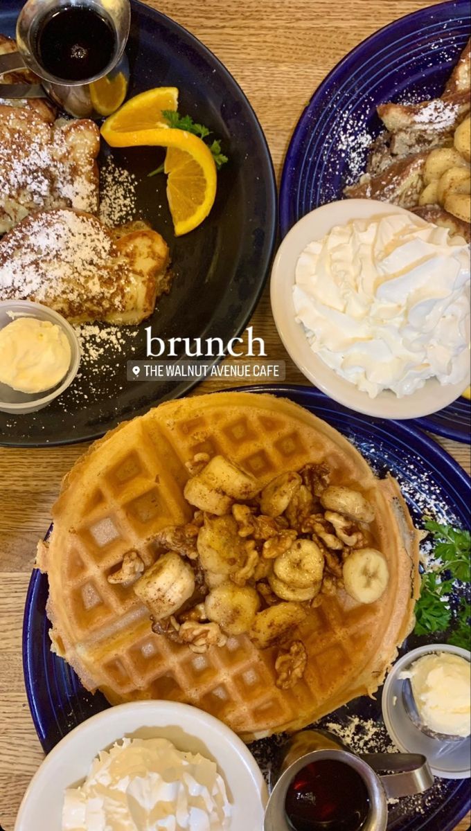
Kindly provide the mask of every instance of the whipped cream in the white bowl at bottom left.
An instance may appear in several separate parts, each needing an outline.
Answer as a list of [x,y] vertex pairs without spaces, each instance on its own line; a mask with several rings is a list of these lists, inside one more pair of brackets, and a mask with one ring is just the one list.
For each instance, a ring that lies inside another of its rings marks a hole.
[[62,831],[223,831],[230,814],[214,762],[166,739],[123,739],[66,790]]

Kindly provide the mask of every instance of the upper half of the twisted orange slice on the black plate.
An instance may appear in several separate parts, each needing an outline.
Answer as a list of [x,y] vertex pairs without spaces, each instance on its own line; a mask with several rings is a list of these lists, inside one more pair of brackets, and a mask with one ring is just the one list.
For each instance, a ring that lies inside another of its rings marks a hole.
[[139,96],[126,101],[117,112],[111,111],[114,114],[105,121],[102,134],[106,139],[105,133],[108,131],[127,133],[130,130],[152,130],[155,127],[168,129],[162,111],[176,111],[178,103],[179,91],[176,86],[156,86],[153,90],[141,92]]

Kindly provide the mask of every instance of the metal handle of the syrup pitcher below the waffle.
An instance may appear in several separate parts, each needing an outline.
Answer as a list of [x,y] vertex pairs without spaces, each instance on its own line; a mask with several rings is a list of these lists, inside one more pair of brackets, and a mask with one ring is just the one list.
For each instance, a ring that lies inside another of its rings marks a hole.
[[[419,753],[363,753],[361,759],[380,775],[388,799],[423,794],[434,784],[434,774]],[[382,770],[397,773],[380,774]]]

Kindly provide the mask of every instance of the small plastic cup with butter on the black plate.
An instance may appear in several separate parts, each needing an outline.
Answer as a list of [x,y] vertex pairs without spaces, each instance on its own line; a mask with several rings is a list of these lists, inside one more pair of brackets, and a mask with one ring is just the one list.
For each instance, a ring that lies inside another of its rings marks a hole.
[[80,358],[60,314],[27,300],[0,302],[0,411],[42,410],[71,385]]

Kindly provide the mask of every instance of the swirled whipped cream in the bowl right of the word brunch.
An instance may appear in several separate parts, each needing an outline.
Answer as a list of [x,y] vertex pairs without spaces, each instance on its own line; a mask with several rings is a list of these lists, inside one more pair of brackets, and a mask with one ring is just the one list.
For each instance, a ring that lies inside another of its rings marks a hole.
[[293,301],[312,351],[375,398],[469,372],[469,247],[410,214],[354,219],[310,243]]

